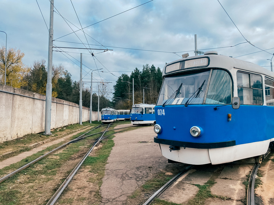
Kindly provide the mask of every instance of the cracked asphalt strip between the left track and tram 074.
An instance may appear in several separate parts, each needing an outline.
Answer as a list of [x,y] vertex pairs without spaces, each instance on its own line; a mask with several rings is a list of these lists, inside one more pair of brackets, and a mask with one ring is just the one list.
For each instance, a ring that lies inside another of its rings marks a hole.
[[165,171],[167,166],[183,166],[167,163],[158,144],[153,141],[156,136],[153,126],[140,127],[115,136],[115,146],[107,160],[100,188],[101,205],[126,204],[128,197],[158,172]]

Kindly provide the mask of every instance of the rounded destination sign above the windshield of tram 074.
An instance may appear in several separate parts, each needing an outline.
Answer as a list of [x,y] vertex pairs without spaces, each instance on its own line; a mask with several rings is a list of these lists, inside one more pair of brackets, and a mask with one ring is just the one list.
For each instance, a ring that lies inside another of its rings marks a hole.
[[184,70],[187,68],[207,67],[208,65],[209,65],[208,57],[189,59],[189,60],[184,60],[184,61],[166,66],[165,73]]

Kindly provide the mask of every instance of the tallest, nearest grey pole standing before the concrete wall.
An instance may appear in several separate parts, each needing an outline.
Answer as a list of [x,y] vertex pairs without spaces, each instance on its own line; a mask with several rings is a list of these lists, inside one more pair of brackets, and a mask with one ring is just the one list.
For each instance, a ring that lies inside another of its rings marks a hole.
[[48,79],[46,87],[45,107],[45,132],[44,135],[51,135],[51,101],[52,101],[52,48],[53,48],[53,2],[50,0],[49,34],[48,34]]

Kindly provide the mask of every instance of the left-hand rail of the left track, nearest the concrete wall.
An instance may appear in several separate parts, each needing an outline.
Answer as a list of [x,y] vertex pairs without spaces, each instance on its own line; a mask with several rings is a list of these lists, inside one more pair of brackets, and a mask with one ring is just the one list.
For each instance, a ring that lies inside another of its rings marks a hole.
[[[97,127],[93,128],[93,129],[91,129],[91,130],[89,130],[89,131],[86,132],[86,133],[89,133],[90,131],[92,131],[92,130],[98,128],[99,126],[100,126],[100,125],[98,125]],[[77,141],[77,140],[79,140],[79,139],[82,139],[82,138],[83,138],[82,136],[84,136],[86,133],[84,133],[84,134],[82,134],[81,136],[75,138],[74,140],[71,140],[71,141],[69,141],[69,142],[67,142],[67,143],[65,143],[65,144],[63,144],[63,145],[61,145],[61,146],[55,148],[54,150],[51,150],[50,152],[48,152],[48,153],[46,153],[46,154],[44,154],[44,155],[42,155],[42,156],[36,158],[36,159],[33,160],[32,162],[29,162],[29,163],[27,163],[26,165],[21,166],[19,169],[17,169],[17,170],[15,170],[15,171],[11,172],[10,174],[7,174],[6,176],[0,178],[0,183],[6,181],[8,178],[12,177],[13,175],[17,174],[18,172],[20,172],[20,171],[26,169],[26,168],[29,167],[30,165],[32,165],[32,164],[34,164],[34,163],[40,161],[41,159],[45,158],[45,157],[48,156],[49,154],[52,154],[53,152],[55,152],[55,151],[57,151],[57,150],[60,150],[62,147],[66,146],[66,145],[68,145],[68,144],[70,144],[70,143],[73,143],[73,142],[75,142],[75,141]],[[95,134],[97,134],[97,133],[95,133]],[[93,135],[93,134],[92,134],[92,135]],[[91,136],[91,135],[89,135],[89,136]],[[87,136],[86,136],[86,137],[87,137]]]

